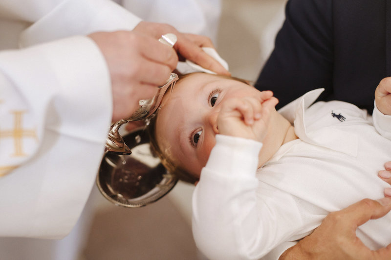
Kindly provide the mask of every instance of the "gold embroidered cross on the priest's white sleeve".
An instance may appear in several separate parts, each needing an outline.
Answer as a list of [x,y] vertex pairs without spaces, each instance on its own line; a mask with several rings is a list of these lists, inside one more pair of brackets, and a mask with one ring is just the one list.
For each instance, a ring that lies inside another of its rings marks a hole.
[[0,130],[0,139],[1,138],[13,138],[14,139],[14,154],[12,156],[27,156],[23,152],[22,140],[25,137],[37,138],[35,129],[23,129],[22,128],[22,118],[25,111],[12,111],[15,115],[14,128],[10,130]]

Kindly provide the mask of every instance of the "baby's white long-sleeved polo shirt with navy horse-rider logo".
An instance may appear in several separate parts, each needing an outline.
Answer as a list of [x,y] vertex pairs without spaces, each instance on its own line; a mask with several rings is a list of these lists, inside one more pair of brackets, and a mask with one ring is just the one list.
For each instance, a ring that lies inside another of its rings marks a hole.
[[[278,259],[329,212],[383,197],[388,184],[377,172],[391,158],[391,116],[375,109],[376,130],[366,111],[349,103],[307,108],[321,92],[308,92],[283,111],[299,139],[258,170],[260,144],[217,135],[193,195],[195,242],[209,259],[260,259],[276,246],[265,259]],[[391,214],[370,220],[357,235],[370,248],[386,246],[390,223]]]

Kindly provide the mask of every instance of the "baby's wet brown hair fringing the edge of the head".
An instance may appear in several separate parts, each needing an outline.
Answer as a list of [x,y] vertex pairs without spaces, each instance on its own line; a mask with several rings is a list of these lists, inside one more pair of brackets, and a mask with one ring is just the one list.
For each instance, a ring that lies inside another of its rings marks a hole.
[[[199,73],[199,72],[196,72]],[[184,74],[184,75],[179,75],[179,80],[176,81],[176,83],[180,82],[181,80],[187,78],[190,75],[193,75],[195,73],[189,73],[189,74]],[[247,85],[251,85],[250,81],[248,80],[243,80],[239,79],[236,77],[231,77],[231,76],[224,76],[224,75],[216,75],[217,77],[221,77],[224,79],[229,79],[229,80],[237,80],[242,83],[245,83]],[[167,91],[166,93],[169,93]],[[188,171],[183,169],[182,167],[176,165],[174,161],[171,160],[170,155],[168,154],[169,148],[166,147],[166,151],[162,151],[162,149],[159,147],[159,144],[157,143],[157,138],[156,138],[156,120],[159,114],[160,109],[157,109],[154,116],[150,119],[150,122],[148,124],[147,130],[148,134],[150,137],[150,146],[151,146],[151,152],[154,156],[159,157],[161,163],[163,166],[169,171],[171,174],[175,175],[178,180],[182,180],[188,183],[194,184],[196,181],[198,181],[198,178],[195,177],[194,175],[190,174]]]

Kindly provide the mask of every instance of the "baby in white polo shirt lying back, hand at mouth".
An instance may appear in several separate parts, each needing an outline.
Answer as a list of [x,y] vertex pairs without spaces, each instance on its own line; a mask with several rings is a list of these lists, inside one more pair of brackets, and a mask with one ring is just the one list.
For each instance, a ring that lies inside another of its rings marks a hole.
[[[391,156],[391,84],[382,82],[371,123],[346,102],[312,104],[322,89],[278,113],[270,91],[244,81],[181,78],[150,131],[163,164],[197,184],[197,247],[209,259],[260,259],[273,249],[279,255],[292,245],[284,242],[310,234],[329,212],[383,197],[387,184],[377,172]],[[391,214],[357,235],[370,248],[386,246]]]

